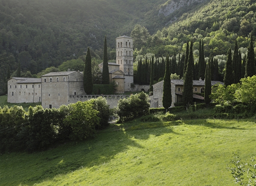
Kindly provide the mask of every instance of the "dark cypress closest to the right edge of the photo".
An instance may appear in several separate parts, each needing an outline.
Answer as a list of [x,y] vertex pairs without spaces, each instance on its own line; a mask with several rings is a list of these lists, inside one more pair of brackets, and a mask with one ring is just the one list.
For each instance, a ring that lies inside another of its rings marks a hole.
[[247,60],[245,63],[245,75],[244,77],[252,77],[255,75],[255,54],[253,48],[253,34],[251,33],[250,44],[247,52]]

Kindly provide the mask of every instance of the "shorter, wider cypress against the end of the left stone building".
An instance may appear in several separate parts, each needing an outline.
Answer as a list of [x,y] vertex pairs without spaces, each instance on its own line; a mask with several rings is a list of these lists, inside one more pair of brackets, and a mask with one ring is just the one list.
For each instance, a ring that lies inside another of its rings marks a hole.
[[89,47],[84,61],[84,92],[86,94],[92,94],[93,92],[92,61]]

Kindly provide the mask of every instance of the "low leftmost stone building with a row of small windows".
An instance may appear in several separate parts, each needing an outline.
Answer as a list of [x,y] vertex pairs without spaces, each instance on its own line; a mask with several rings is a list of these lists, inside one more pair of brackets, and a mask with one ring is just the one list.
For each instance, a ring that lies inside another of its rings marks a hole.
[[41,79],[12,77],[8,80],[8,103],[41,102]]

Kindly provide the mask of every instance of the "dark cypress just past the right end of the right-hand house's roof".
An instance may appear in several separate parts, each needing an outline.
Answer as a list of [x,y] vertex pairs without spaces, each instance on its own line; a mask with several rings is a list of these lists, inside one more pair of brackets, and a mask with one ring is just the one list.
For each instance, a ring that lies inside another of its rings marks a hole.
[[234,83],[233,65],[231,49],[227,52],[227,63],[225,65],[224,85],[228,86]]

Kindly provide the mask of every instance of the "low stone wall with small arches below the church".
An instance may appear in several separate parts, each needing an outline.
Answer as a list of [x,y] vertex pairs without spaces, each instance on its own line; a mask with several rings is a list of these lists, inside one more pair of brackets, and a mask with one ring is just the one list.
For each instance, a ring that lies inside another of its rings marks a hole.
[[111,109],[117,106],[118,100],[128,98],[129,95],[69,95],[68,103],[76,103],[78,101],[87,101],[92,98],[104,97]]

